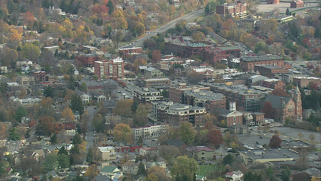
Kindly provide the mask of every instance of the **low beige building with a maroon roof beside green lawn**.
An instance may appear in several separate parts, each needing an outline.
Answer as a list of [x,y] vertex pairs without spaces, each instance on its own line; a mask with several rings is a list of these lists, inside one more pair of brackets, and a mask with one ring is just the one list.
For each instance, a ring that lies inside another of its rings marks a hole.
[[188,155],[199,160],[213,160],[215,159],[215,150],[206,146],[191,146],[185,148]]

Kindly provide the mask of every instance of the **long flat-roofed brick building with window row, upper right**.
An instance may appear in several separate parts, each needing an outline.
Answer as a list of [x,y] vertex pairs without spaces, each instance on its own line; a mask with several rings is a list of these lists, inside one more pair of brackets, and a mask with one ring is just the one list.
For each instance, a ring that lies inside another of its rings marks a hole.
[[264,55],[254,57],[243,57],[240,60],[240,67],[243,71],[251,71],[254,65],[275,65],[284,67],[284,59],[277,55]]

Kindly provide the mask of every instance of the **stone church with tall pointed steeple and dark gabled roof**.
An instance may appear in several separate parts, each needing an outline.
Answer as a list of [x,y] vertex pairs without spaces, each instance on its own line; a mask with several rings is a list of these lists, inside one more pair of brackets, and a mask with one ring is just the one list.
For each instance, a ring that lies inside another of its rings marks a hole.
[[301,93],[296,86],[293,97],[281,97],[268,95],[264,102],[270,102],[273,109],[271,119],[284,123],[285,118],[294,116],[297,120],[302,120]]

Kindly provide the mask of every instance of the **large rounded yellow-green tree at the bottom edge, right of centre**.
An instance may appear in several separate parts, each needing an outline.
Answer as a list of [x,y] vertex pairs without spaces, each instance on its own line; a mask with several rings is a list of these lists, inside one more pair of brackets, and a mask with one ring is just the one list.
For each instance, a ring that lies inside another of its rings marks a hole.
[[187,155],[178,156],[171,169],[171,174],[175,180],[193,180],[197,165],[194,158],[188,158]]

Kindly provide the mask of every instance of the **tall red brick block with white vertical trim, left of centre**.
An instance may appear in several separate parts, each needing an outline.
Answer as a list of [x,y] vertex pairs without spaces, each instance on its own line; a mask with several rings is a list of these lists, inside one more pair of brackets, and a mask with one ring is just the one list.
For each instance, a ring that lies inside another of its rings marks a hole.
[[123,78],[124,62],[121,58],[94,62],[95,75],[98,78]]

